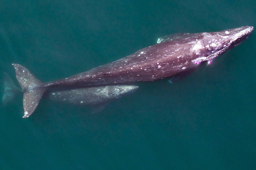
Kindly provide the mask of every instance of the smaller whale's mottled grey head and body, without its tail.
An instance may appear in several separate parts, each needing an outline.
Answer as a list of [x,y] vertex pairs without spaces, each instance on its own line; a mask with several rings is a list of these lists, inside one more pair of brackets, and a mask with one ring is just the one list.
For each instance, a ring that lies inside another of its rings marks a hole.
[[93,105],[106,103],[127,95],[139,86],[135,85],[113,85],[88,88],[77,88],[72,90],[54,91],[47,95],[47,98],[76,105]]

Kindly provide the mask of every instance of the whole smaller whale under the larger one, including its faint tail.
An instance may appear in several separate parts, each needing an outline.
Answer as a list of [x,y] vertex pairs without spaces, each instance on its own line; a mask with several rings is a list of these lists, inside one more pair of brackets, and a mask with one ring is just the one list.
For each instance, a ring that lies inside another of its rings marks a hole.
[[[2,103],[4,105],[10,102],[18,92],[24,92],[23,89],[15,86],[14,82],[7,73],[4,73],[3,85],[4,93],[2,96]],[[57,102],[65,102],[76,105],[96,105],[104,104],[110,100],[130,94],[138,88],[139,86],[136,85],[108,85],[59,91],[55,91],[55,89],[53,89],[52,91],[48,91],[45,94],[45,97]]]

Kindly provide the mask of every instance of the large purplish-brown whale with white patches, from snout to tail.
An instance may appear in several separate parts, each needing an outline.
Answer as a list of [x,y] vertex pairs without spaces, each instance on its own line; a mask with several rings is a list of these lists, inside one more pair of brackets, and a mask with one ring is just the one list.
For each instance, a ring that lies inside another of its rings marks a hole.
[[13,64],[23,97],[24,117],[31,115],[44,91],[51,88],[77,88],[154,81],[185,75],[248,38],[253,27],[218,32],[174,34],[160,38],[158,44],[143,48],[120,60],[66,79],[43,83],[25,67]]

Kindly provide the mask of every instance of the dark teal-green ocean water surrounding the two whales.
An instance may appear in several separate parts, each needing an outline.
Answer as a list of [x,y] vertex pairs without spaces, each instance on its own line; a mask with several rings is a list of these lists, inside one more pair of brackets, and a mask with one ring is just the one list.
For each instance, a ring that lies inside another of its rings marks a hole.
[[[17,86],[12,63],[52,81],[160,36],[256,27],[253,0],[0,4],[0,79],[7,72]],[[96,114],[43,99],[24,119],[22,95],[0,104],[0,169],[256,169],[255,41],[254,31],[173,84],[138,83]]]

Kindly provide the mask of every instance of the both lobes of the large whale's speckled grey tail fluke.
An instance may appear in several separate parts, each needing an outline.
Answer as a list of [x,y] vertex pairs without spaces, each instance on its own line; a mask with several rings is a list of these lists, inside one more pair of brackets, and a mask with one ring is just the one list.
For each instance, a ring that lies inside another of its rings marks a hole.
[[23,95],[23,118],[29,117],[37,108],[40,99],[42,98],[46,88],[43,87],[45,83],[38,80],[27,68],[19,65],[12,64],[15,68],[16,78],[25,90]]

